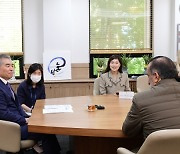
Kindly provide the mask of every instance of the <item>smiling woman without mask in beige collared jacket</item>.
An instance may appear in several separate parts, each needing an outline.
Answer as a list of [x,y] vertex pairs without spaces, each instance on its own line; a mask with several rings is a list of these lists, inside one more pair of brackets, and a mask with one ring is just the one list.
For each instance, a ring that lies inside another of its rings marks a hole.
[[99,82],[100,95],[131,90],[128,75],[122,72],[122,61],[118,55],[109,58],[105,73],[101,75]]

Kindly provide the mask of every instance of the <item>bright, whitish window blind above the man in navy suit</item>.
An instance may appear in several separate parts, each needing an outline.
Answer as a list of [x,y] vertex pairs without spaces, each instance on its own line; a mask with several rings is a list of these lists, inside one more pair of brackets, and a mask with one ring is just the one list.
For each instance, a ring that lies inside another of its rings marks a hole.
[[21,0],[0,0],[0,53],[22,53]]

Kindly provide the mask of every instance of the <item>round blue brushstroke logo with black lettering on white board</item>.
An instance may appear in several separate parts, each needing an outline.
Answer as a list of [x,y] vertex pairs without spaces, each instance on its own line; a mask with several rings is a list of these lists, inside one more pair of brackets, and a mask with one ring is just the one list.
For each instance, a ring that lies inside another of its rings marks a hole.
[[66,60],[63,57],[53,58],[48,65],[48,72],[53,76],[59,76],[62,73],[62,68],[66,65]]

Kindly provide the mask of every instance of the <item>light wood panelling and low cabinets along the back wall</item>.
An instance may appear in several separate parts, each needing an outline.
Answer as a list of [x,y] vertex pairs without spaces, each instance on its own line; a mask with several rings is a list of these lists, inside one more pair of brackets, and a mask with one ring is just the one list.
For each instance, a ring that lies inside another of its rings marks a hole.
[[[24,67],[27,72],[30,64]],[[46,98],[93,95],[94,79],[89,79],[89,64],[72,64],[72,80],[45,81]],[[13,89],[17,90],[23,80],[12,81]],[[130,79],[130,88],[136,92],[136,80]]]

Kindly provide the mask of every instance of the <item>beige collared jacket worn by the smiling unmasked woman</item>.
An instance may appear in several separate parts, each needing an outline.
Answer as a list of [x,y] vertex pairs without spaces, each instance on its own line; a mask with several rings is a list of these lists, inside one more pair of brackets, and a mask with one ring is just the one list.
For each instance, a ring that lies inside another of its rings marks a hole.
[[119,73],[117,80],[112,78],[111,72],[107,72],[101,75],[99,81],[100,95],[103,94],[115,94],[119,91],[130,91],[129,78],[126,73]]

